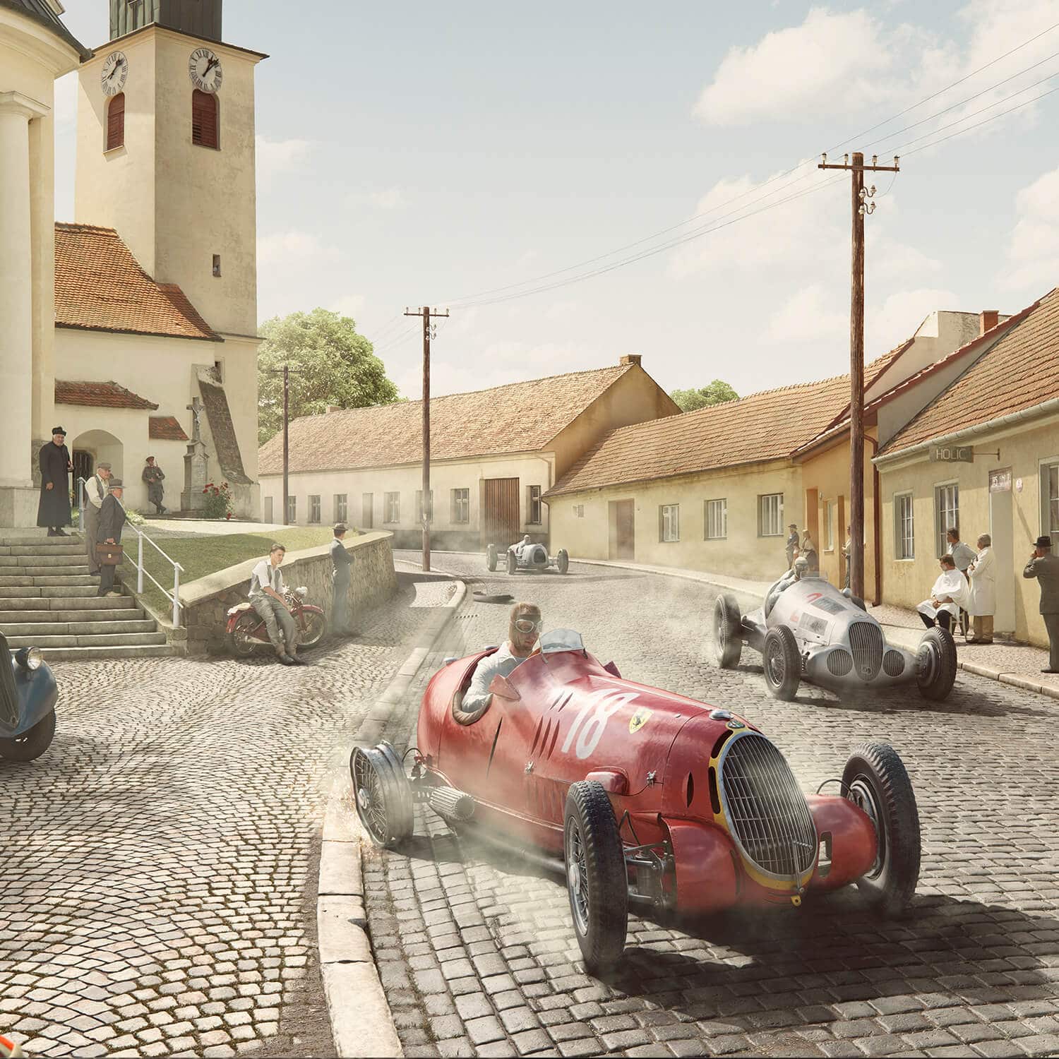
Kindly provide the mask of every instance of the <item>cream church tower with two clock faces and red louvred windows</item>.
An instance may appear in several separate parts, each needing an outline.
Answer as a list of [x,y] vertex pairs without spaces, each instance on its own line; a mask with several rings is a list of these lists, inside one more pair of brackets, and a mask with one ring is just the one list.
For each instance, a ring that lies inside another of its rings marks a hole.
[[115,228],[226,337],[257,333],[254,68],[222,0],[109,0],[80,68],[75,219]]

